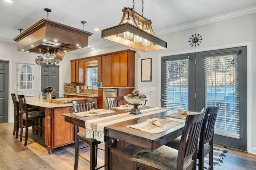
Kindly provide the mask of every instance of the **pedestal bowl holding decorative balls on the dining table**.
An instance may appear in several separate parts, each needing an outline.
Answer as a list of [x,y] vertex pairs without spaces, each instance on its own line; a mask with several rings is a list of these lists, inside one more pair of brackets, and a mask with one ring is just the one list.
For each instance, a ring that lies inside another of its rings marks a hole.
[[140,108],[138,108],[138,106],[141,106],[141,105],[145,106],[146,102],[148,101],[147,98],[129,98],[127,96],[124,96],[124,99],[128,102],[128,104],[134,106],[130,113],[130,114],[134,114],[134,115],[141,114]]

